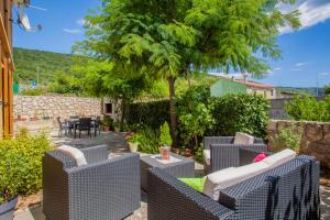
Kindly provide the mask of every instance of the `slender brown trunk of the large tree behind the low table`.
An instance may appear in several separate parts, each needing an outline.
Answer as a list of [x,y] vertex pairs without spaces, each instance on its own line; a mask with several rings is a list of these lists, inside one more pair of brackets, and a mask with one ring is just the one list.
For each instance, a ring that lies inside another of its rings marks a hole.
[[173,141],[173,146],[177,146],[177,112],[176,112],[176,100],[175,100],[175,78],[168,77],[168,88],[169,88],[169,112],[170,112],[170,136]]

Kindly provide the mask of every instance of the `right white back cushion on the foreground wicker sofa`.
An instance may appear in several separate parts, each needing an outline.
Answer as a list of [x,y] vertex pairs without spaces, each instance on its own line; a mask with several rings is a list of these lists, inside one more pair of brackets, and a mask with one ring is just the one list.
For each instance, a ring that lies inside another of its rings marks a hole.
[[268,164],[270,169],[271,169],[271,168],[274,168],[282,164],[285,164],[286,162],[289,162],[290,160],[295,158],[296,156],[297,156],[297,153],[295,151],[286,148],[286,150],[283,150],[282,152],[278,152],[276,154],[267,156],[266,158],[263,160],[263,162]]

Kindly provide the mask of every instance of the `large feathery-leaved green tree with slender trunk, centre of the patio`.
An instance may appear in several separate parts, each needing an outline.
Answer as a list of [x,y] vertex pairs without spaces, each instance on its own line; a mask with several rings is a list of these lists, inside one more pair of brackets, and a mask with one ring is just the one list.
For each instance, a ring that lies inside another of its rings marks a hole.
[[[113,70],[165,78],[176,143],[175,81],[187,72],[218,68],[266,73],[278,58],[278,28],[299,26],[298,12],[274,6],[295,0],[102,0],[76,51],[113,62]],[[260,58],[257,54],[262,54]]]

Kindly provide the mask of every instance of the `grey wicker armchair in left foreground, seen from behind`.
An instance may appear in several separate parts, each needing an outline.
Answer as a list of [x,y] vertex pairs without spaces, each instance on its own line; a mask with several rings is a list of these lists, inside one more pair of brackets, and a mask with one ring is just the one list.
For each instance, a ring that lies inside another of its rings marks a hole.
[[43,211],[47,220],[119,220],[141,206],[140,157],[108,160],[107,146],[81,150],[88,165],[61,151],[43,158]]

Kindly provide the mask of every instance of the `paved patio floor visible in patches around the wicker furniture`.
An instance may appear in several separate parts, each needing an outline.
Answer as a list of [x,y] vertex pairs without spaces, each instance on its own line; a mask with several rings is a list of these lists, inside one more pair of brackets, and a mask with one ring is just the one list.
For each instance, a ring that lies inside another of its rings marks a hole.
[[[128,145],[123,139],[122,133],[101,133],[101,135],[92,136],[91,139],[82,135],[81,139],[73,138],[56,138],[56,132],[53,132],[54,136],[52,141],[57,144],[69,144],[77,147],[89,147],[95,145],[108,145],[110,152],[125,152],[128,151]],[[202,165],[195,164],[196,175],[202,173]],[[330,220],[330,187],[320,186],[321,191],[321,219]],[[132,216],[125,218],[125,220],[146,220],[147,219],[147,198],[146,194],[142,193],[141,209],[136,210]],[[42,205],[35,205],[24,210],[18,210],[15,212],[14,220],[45,220],[42,212]]]

